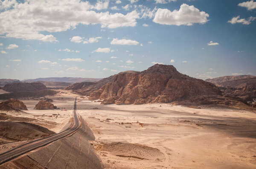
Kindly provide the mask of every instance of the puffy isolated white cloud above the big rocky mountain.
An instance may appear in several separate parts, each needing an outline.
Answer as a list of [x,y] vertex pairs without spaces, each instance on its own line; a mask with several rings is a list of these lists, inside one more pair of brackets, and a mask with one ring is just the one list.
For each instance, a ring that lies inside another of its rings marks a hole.
[[153,22],[164,25],[193,25],[193,23],[207,23],[209,14],[199,11],[194,6],[183,3],[179,11],[168,9],[157,9]]

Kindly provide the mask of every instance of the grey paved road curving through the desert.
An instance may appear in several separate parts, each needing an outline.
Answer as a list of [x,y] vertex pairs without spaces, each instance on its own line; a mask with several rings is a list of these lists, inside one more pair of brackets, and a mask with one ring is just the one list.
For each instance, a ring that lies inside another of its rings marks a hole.
[[40,138],[35,141],[30,141],[26,144],[22,144],[7,152],[0,154],[0,164],[5,163],[6,161],[12,160],[13,158],[16,158],[34,149],[37,149],[39,147],[52,143],[53,141],[64,138],[67,135],[73,134],[74,132],[79,130],[80,126],[81,126],[81,122],[76,113],[76,99],[75,99],[74,112],[73,112],[73,124],[71,127],[69,127],[67,130],[64,130],[63,132],[60,132],[58,134],[50,135],[45,138]]

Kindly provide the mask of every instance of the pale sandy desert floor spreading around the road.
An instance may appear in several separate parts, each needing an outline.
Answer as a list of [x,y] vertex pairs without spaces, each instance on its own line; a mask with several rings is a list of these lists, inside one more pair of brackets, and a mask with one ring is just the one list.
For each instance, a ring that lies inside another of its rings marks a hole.
[[[64,130],[70,125],[77,95],[60,91],[47,96],[60,110],[33,110],[39,100],[20,99],[28,107],[27,114],[15,116],[41,120],[54,132]],[[96,140],[91,144],[106,169],[256,168],[255,112],[170,104],[100,105],[77,97],[77,112],[93,130]],[[49,125],[52,122],[56,124]],[[112,142],[129,144],[108,151],[99,148]],[[134,149],[134,144],[145,147]]]

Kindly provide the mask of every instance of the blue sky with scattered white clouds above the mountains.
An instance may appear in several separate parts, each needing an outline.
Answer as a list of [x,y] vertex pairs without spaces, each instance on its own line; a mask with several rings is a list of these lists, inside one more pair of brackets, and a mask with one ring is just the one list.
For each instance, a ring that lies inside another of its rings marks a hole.
[[105,78],[159,63],[256,76],[255,0],[0,0],[0,79]]

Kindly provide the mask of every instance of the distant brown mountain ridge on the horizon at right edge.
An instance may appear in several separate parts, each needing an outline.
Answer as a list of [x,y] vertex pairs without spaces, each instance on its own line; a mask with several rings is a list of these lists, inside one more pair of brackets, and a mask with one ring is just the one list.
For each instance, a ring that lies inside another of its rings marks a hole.
[[[215,84],[216,86],[222,86],[225,87],[228,85],[230,81],[233,80],[240,80],[240,79],[249,79],[249,78],[256,78],[256,76],[251,76],[251,75],[241,75],[241,76],[221,76],[221,77],[216,77],[213,79],[206,79],[206,82],[211,82]],[[226,82],[226,83],[224,83]],[[238,82],[238,81],[237,81]]]

